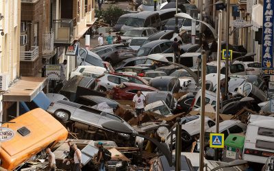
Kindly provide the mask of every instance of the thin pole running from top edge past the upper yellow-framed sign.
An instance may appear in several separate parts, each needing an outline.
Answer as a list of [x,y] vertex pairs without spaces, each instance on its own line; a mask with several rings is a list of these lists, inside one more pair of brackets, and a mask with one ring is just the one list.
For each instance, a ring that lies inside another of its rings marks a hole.
[[229,64],[228,64],[228,57],[229,57],[229,12],[230,12],[230,0],[227,0],[227,28],[226,28],[226,41],[227,41],[227,49],[226,49],[226,57],[225,57],[225,98],[227,98],[228,94],[228,71],[229,71]]

